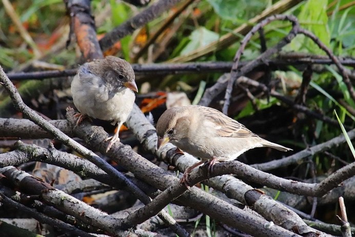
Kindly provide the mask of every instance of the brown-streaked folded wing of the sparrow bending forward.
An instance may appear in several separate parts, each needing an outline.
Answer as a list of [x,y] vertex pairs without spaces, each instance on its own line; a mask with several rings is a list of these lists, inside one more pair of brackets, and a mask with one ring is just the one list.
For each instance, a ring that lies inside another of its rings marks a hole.
[[216,136],[224,137],[250,137],[258,136],[251,132],[243,124],[233,120],[227,115],[221,113],[216,109],[209,107],[200,107],[204,113],[206,120],[214,125]]

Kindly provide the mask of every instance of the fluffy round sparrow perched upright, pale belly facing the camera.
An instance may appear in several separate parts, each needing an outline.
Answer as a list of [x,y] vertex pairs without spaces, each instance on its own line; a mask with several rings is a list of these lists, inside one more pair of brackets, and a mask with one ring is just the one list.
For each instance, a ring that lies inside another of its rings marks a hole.
[[127,61],[107,56],[80,66],[71,83],[73,102],[80,112],[77,124],[87,116],[117,124],[115,134],[104,140],[110,140],[106,152],[120,141],[120,128],[133,108],[133,91],[138,92],[134,78]]

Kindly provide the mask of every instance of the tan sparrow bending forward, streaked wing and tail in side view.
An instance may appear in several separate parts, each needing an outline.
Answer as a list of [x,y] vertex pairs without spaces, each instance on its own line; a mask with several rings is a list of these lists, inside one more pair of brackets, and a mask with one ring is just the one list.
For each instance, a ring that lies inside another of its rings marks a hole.
[[244,125],[209,107],[190,105],[167,109],[156,123],[157,149],[170,142],[177,148],[200,157],[184,172],[181,183],[188,187],[188,174],[206,162],[212,172],[216,162],[232,161],[255,147],[271,147],[280,151],[290,148],[266,141]]

